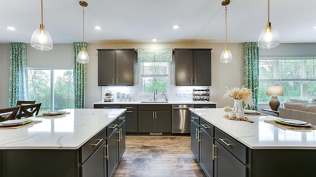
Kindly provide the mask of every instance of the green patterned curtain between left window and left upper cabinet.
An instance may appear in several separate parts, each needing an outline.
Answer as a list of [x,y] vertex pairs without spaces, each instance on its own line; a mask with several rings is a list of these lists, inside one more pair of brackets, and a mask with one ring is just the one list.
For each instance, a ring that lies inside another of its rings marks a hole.
[[[86,49],[87,44],[84,43]],[[74,91],[75,108],[85,108],[85,79],[86,64],[77,62],[77,56],[82,48],[82,42],[74,42],[73,61],[74,61]]]

